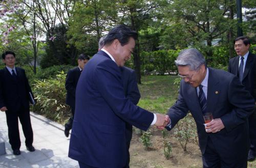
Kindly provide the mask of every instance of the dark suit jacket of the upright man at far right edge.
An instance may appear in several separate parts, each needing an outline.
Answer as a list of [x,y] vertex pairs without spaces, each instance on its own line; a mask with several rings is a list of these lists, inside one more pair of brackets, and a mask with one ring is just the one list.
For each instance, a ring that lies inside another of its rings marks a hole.
[[[238,76],[239,56],[229,60],[228,72]],[[245,89],[250,92],[256,101],[256,55],[249,52],[242,80]]]

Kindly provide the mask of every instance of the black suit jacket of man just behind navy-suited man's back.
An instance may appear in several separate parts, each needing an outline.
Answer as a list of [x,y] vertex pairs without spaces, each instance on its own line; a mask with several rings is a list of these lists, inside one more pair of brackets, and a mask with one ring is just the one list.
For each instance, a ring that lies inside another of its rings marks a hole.
[[78,67],[69,70],[67,77],[65,88],[67,90],[66,94],[66,104],[71,107],[75,107],[75,95],[76,95],[76,85],[79,79],[81,71]]

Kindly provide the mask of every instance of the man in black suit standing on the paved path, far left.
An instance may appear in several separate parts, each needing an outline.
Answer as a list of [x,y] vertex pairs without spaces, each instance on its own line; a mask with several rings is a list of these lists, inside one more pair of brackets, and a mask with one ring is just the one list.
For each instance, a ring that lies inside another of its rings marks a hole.
[[35,148],[32,146],[33,130],[29,114],[29,101],[32,101],[33,94],[25,70],[15,67],[15,53],[6,51],[2,58],[6,67],[0,70],[0,110],[6,113],[9,143],[13,154],[20,155],[19,118],[27,150],[33,152]]

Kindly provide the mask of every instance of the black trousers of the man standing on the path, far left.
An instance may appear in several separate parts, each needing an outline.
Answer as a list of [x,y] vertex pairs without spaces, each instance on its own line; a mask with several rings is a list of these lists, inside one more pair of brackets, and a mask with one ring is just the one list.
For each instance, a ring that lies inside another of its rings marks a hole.
[[31,146],[33,143],[33,130],[30,121],[29,108],[25,109],[21,106],[18,111],[7,110],[5,114],[8,126],[9,143],[11,144],[12,150],[20,148],[18,119],[22,124],[23,133],[26,138],[25,144],[26,146]]

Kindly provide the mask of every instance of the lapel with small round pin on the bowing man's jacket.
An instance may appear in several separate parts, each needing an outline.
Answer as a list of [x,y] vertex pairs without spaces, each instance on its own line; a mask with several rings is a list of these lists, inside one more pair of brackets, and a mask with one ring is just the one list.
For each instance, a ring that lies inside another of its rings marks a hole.
[[214,70],[209,69],[208,86],[207,86],[207,112],[214,114],[216,104],[219,99],[221,87],[219,87],[219,80],[216,77]]

